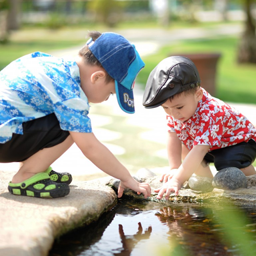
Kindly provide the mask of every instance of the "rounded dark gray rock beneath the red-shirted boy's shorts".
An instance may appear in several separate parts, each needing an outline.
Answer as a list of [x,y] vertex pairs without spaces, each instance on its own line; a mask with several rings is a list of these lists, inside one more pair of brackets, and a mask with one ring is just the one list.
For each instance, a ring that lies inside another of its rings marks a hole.
[[247,178],[239,168],[228,167],[219,170],[212,181],[212,186],[228,190],[246,188]]

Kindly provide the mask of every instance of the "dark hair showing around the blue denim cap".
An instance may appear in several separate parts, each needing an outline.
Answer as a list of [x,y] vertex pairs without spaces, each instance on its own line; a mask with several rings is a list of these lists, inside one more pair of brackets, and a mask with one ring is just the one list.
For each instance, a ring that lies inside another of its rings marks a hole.
[[[101,33],[98,31],[91,31],[88,33],[88,37],[91,37],[94,41],[101,36]],[[98,66],[102,67],[101,63],[95,58],[95,56],[92,54],[91,50],[89,49],[88,45],[84,45],[80,51],[78,52],[79,56],[83,57],[84,62],[88,63],[92,66]],[[114,79],[106,72],[106,83],[114,81]]]

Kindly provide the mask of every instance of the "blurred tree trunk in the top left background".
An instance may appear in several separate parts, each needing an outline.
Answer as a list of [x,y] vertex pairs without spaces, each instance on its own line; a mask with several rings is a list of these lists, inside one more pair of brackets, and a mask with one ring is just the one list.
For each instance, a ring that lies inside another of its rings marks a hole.
[[17,30],[20,27],[20,10],[22,7],[22,0],[9,0],[9,6],[7,29]]

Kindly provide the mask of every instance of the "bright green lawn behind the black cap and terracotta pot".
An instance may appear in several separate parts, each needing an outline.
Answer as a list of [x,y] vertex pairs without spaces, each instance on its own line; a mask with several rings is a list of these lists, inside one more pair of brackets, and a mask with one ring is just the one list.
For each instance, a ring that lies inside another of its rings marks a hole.
[[138,81],[145,84],[154,67],[170,55],[219,52],[215,96],[229,102],[256,103],[256,65],[237,63],[238,42],[236,37],[225,37],[185,40],[165,46],[156,54],[143,58],[146,66],[138,75]]

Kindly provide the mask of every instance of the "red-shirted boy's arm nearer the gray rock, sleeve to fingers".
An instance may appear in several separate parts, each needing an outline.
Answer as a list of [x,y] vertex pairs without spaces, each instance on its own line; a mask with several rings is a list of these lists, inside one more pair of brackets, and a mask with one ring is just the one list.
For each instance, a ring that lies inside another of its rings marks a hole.
[[178,196],[182,184],[196,172],[209,148],[210,146],[207,145],[194,146],[187,154],[173,178],[164,183],[161,188],[155,189],[155,192],[158,193],[157,198],[161,199],[164,193],[166,200],[169,198],[170,193],[175,193]]

